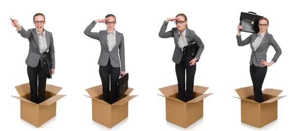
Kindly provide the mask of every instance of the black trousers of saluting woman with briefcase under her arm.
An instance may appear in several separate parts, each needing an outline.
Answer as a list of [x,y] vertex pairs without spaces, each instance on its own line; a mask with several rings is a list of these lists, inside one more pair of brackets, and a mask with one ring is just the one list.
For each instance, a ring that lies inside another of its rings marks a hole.
[[[179,64],[176,64],[176,75],[178,80],[178,98],[184,102],[193,99],[193,85],[196,71],[194,66],[185,67],[184,59]],[[185,70],[186,70],[186,93],[185,93]]]

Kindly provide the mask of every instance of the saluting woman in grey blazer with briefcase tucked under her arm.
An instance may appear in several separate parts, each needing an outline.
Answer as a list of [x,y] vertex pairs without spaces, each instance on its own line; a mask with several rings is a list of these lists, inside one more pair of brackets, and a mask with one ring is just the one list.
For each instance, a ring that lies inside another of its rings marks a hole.
[[[176,28],[166,32],[168,22],[175,21]],[[194,75],[196,71],[195,63],[200,59],[201,53],[204,50],[204,44],[201,39],[194,33],[194,31],[188,29],[187,17],[185,14],[178,14],[176,18],[167,18],[159,31],[159,37],[161,38],[174,38],[175,51],[173,54],[173,62],[176,63],[175,70],[178,80],[178,97],[180,100],[187,102],[193,99],[193,85]],[[195,41],[199,49],[194,59],[189,63],[189,66],[185,66],[185,60],[183,56],[183,47],[188,45],[190,41]],[[186,93],[185,93],[185,70],[186,70]]]

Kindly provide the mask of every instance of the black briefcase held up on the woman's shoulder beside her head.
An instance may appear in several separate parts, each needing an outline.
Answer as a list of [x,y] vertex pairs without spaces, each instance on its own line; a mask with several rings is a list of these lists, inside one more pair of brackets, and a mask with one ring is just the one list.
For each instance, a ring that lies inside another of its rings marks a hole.
[[259,16],[254,12],[249,11],[248,13],[241,12],[241,16],[239,18],[240,25],[243,29],[240,29],[241,32],[247,33],[258,33],[259,32],[259,19],[263,16]]

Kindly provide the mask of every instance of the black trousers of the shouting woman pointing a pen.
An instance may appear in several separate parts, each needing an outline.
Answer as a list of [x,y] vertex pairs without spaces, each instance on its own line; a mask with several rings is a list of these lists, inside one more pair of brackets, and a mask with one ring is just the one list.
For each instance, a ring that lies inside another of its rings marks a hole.
[[[40,64],[37,67],[27,66],[27,72],[30,82],[31,101],[41,103],[45,100],[45,87],[46,87],[46,71]],[[38,91],[38,95],[37,95]]]

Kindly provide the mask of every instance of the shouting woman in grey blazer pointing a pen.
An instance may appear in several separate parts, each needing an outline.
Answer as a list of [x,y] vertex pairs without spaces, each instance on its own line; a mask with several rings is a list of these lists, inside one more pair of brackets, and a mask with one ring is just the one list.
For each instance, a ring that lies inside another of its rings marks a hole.
[[30,82],[31,101],[41,103],[45,100],[47,75],[42,62],[40,61],[42,60],[41,54],[47,50],[51,58],[51,74],[54,74],[55,69],[55,51],[52,33],[44,29],[45,16],[42,13],[34,15],[33,22],[35,28],[29,29],[28,31],[20,26],[16,19],[12,20],[11,25],[16,28],[17,32],[20,33],[22,37],[29,40],[30,46],[26,64]]

